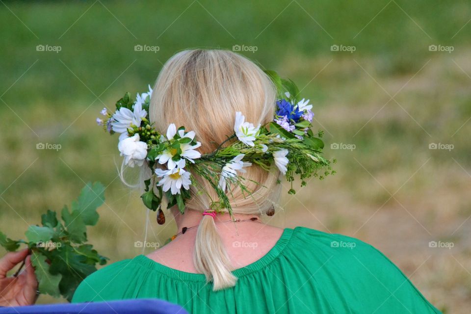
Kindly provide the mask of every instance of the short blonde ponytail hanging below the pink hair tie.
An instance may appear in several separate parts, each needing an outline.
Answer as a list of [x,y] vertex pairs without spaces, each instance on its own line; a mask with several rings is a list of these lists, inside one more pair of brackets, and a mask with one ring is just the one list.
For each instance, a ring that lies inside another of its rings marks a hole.
[[229,257],[210,215],[203,215],[198,226],[193,263],[208,282],[212,281],[213,291],[235,286],[237,277],[229,268]]

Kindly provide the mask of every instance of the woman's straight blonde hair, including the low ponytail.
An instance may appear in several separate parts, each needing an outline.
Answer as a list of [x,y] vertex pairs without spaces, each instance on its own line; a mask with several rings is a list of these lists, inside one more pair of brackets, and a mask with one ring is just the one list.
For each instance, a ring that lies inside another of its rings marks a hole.
[[[170,123],[195,131],[202,143],[202,154],[214,151],[234,132],[235,112],[241,111],[254,125],[273,119],[276,89],[270,78],[252,61],[231,51],[185,50],[172,56],[163,66],[150,101],[150,120],[165,133]],[[252,195],[232,188],[229,199],[234,213],[262,214],[274,206],[279,171],[267,172],[257,165],[246,168],[244,184]],[[207,181],[197,193],[191,186],[186,209],[209,209],[217,196]],[[252,181],[260,184],[253,183]],[[279,186],[279,184],[278,184]],[[213,282],[213,290],[235,285],[226,249],[214,220],[204,215],[198,226],[193,255],[195,268]]]

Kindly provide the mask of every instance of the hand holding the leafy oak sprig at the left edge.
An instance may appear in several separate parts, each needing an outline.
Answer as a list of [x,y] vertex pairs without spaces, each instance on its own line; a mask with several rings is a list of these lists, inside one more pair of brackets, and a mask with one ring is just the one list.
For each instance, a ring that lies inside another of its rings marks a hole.
[[[6,273],[26,259],[26,268],[17,277],[6,277]],[[0,259],[0,306],[31,305],[36,302],[38,282],[31,265],[28,249],[7,253]]]

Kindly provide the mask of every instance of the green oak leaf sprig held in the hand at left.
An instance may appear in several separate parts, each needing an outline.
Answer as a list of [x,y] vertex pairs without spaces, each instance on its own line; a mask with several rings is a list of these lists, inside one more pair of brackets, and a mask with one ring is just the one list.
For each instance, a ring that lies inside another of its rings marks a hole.
[[29,226],[27,240],[12,240],[0,232],[0,245],[7,251],[16,251],[26,244],[32,252],[31,263],[38,280],[40,293],[63,296],[69,302],[85,277],[104,265],[108,258],[87,244],[87,226],[97,224],[97,212],[105,202],[102,183],[87,183],[77,200],[61,210],[61,220],[55,211],[41,215],[41,226]]

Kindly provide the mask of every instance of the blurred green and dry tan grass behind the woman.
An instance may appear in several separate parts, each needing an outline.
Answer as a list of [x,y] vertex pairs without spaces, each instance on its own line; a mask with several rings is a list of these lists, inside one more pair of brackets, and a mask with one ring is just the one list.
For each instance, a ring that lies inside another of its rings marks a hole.
[[[445,313],[467,313],[469,1],[1,2],[1,231],[21,238],[40,212],[69,204],[84,182],[101,181],[107,201],[91,242],[112,262],[140,254],[134,241],[144,237],[145,210],[117,178],[117,138],[95,127],[99,110],[125,91],[145,91],[175,52],[252,46],[256,52],[241,53],[304,88],[325,130],[325,154],[338,160],[336,176],[285,193],[269,223],[359,237]],[[37,143],[62,148],[37,150]],[[355,149],[331,149],[335,143]],[[150,239],[174,231],[151,215]]]

